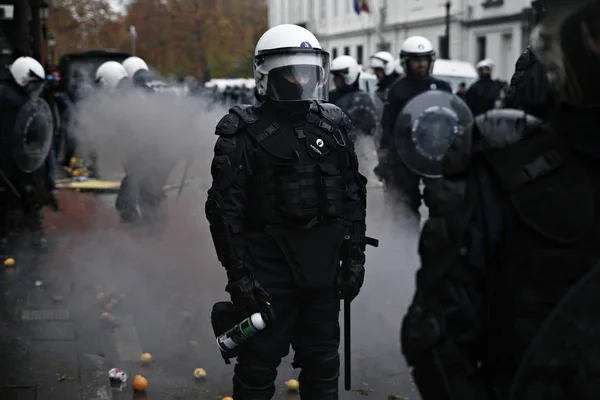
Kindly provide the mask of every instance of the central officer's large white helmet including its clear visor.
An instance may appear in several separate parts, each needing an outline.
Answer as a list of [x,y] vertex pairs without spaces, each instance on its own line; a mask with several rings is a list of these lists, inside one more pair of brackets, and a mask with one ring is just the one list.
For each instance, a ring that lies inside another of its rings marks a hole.
[[329,53],[308,30],[275,26],[256,44],[254,80],[259,97],[281,102],[327,100]]

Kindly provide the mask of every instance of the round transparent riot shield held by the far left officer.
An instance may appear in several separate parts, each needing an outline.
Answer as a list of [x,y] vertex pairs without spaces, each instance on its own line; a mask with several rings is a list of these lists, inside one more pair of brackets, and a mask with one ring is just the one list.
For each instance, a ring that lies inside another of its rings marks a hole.
[[50,153],[52,135],[50,106],[40,98],[29,100],[19,110],[10,140],[17,168],[25,173],[40,168]]

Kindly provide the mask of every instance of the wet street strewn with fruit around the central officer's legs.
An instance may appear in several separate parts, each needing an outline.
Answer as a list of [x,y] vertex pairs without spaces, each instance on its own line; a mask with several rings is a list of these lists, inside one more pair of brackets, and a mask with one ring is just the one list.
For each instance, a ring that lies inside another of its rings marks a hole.
[[[2,365],[0,398],[131,399],[137,374],[149,386],[136,399],[231,395],[233,364],[223,362],[210,326],[212,305],[228,295],[204,217],[205,193],[195,181],[180,199],[170,192],[170,227],[149,237],[120,225],[114,195],[62,191],[63,211],[46,217],[48,252],[38,260],[16,256],[4,271],[0,354],[15,362]],[[382,189],[371,189],[367,232],[381,243],[368,249],[365,286],[352,304],[353,391],[341,399],[419,398],[399,350],[417,236],[389,213]],[[117,323],[107,324],[103,312]],[[149,365],[140,363],[142,353],[152,354]],[[276,399],[299,399],[285,386],[298,375],[291,359],[279,369]],[[108,386],[111,368],[129,375],[124,388]],[[194,379],[196,368],[206,370],[205,379]]]

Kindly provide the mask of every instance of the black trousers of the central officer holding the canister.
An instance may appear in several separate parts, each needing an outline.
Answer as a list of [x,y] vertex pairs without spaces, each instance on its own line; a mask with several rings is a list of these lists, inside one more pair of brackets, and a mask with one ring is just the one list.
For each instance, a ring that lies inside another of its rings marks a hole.
[[[262,235],[261,235],[262,236]],[[281,250],[268,235],[249,239],[256,280],[271,295],[276,319],[240,349],[233,378],[236,400],[268,400],[281,359],[294,349],[300,398],[337,400],[340,300],[333,285],[300,289]]]

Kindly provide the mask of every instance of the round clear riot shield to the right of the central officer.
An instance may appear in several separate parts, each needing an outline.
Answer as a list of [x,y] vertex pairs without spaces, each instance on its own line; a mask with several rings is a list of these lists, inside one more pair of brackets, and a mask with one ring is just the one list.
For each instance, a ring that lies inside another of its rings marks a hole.
[[409,101],[396,119],[398,155],[416,174],[442,176],[446,151],[456,136],[470,136],[473,114],[457,96],[430,90]]

